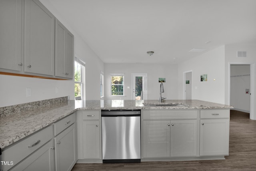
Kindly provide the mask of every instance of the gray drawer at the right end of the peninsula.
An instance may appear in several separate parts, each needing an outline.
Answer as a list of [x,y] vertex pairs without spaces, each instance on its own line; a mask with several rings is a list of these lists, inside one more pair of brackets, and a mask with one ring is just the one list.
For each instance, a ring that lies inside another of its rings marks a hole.
[[229,118],[230,110],[201,110],[200,118]]

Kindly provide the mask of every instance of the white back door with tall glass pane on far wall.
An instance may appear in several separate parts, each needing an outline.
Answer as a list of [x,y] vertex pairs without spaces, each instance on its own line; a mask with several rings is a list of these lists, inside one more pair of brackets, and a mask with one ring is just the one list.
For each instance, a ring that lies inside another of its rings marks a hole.
[[147,95],[147,74],[132,74],[132,99],[146,100]]

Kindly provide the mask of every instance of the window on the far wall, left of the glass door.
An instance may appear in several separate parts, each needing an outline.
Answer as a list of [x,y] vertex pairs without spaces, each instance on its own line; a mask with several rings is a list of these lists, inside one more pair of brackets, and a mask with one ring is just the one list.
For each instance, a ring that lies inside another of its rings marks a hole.
[[124,95],[124,74],[111,74],[111,95]]

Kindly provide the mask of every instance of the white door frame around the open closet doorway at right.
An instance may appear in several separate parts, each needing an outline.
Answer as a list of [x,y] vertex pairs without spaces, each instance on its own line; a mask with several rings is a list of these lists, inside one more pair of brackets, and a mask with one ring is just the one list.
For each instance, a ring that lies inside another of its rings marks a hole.
[[230,105],[230,67],[231,65],[250,65],[250,119],[256,120],[256,111],[255,111],[255,92],[256,92],[256,63],[253,62],[228,62],[228,105]]

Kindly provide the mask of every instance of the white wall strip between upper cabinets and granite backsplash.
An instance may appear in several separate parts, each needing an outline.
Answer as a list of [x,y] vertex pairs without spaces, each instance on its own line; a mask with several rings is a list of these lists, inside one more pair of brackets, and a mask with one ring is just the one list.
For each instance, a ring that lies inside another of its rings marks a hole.
[[[74,94],[74,81],[72,80],[5,75],[0,75],[0,80],[0,107]],[[26,88],[31,89],[30,97],[26,96]]]

